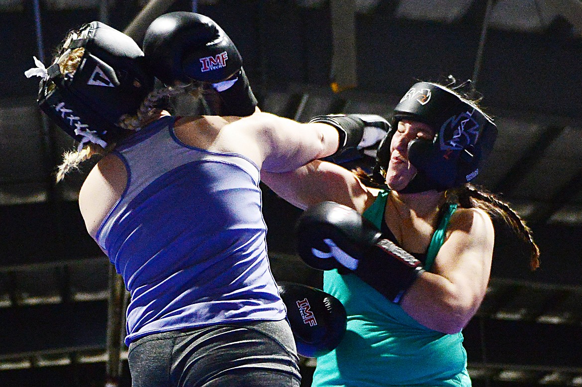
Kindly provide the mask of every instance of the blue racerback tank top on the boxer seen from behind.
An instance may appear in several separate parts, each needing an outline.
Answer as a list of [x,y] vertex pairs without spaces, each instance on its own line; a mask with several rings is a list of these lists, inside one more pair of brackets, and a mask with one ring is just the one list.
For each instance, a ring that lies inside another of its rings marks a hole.
[[286,316],[267,259],[256,164],[183,144],[174,121],[163,117],[116,147],[127,187],[95,238],[131,293],[126,345]]

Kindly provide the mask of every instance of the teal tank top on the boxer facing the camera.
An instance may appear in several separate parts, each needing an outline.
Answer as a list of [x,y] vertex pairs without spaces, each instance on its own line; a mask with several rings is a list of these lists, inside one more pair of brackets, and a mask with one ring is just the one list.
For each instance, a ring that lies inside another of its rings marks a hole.
[[[378,230],[387,198],[388,191],[381,191],[364,212]],[[456,207],[445,208],[425,270],[434,263]],[[424,327],[353,274],[325,271],[324,291],[346,307],[347,331],[335,350],[317,358],[313,387],[471,386],[460,332],[446,335]]]

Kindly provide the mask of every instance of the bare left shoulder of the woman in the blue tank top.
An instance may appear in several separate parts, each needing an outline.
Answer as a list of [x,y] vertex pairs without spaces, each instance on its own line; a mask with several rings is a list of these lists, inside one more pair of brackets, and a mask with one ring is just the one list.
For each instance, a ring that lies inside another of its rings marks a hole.
[[127,185],[125,164],[119,157],[103,157],[91,172],[79,192],[79,209],[91,236],[97,234],[105,216],[119,200]]

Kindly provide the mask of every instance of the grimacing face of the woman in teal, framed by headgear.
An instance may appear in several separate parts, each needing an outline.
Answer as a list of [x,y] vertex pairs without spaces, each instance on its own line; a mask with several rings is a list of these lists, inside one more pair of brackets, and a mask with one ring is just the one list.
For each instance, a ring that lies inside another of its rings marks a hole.
[[416,168],[408,160],[408,144],[415,138],[434,138],[434,129],[425,123],[402,120],[398,123],[390,142],[390,162],[386,171],[386,184],[394,191],[400,191],[416,175]]

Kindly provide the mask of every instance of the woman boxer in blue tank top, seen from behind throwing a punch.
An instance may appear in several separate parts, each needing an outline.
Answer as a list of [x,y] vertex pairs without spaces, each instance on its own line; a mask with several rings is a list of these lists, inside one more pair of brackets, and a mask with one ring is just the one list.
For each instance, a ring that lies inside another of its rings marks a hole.
[[[236,47],[205,16],[161,16],[144,48],[93,22],[65,38],[51,66],[36,60],[26,73],[42,78],[41,109],[79,142],[58,179],[102,156],[79,206],[131,294],[132,386],[297,387],[260,174],[342,152],[363,133],[261,113]],[[166,87],[154,89],[154,75]],[[174,117],[159,107],[202,87],[218,93],[224,116]]]

